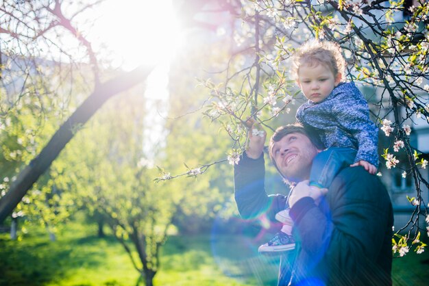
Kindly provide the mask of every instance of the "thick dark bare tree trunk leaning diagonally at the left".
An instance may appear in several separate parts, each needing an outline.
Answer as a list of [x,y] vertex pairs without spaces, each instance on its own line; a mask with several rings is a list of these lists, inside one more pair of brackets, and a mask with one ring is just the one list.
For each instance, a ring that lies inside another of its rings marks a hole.
[[136,68],[95,88],[93,94],[77,107],[39,155],[18,174],[16,180],[10,185],[9,191],[0,200],[0,224],[12,213],[29,188],[51,166],[52,161],[73,138],[77,129],[84,125],[110,97],[145,80],[153,68],[153,66]]

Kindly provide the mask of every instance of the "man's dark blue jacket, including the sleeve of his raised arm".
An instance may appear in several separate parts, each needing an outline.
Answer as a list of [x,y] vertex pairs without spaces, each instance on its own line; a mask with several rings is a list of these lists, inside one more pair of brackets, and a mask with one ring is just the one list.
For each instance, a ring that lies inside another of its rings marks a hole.
[[[275,221],[283,195],[267,196],[264,158],[245,154],[234,167],[243,218]],[[297,248],[281,259],[278,285],[391,285],[393,211],[378,177],[362,167],[336,175],[319,206],[302,198],[291,208]]]

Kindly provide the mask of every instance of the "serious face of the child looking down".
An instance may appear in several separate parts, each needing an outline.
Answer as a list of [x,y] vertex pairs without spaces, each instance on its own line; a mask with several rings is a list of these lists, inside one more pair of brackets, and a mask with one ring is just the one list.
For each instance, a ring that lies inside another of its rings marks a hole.
[[323,64],[303,64],[298,70],[299,88],[307,99],[315,103],[325,100],[340,81],[341,74],[334,75],[332,70]]

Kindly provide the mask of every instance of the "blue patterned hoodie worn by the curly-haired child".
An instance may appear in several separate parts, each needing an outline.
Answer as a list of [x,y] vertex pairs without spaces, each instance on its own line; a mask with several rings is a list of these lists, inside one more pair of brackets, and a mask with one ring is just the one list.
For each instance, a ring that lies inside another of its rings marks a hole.
[[354,148],[358,151],[355,163],[364,160],[378,167],[378,128],[369,119],[368,103],[353,82],[340,83],[320,103],[304,103],[296,116],[305,128],[319,133],[326,148]]

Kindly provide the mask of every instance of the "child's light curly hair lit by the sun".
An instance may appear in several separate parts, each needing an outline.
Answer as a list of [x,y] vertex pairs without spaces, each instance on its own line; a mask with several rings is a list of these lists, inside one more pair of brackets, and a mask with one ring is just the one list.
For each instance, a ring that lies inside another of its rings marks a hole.
[[299,67],[302,64],[308,64],[310,67],[323,64],[330,68],[334,75],[341,73],[344,78],[346,63],[340,45],[334,42],[309,40],[302,44],[292,58],[291,73],[295,79],[298,78]]

